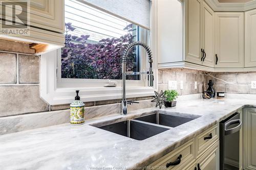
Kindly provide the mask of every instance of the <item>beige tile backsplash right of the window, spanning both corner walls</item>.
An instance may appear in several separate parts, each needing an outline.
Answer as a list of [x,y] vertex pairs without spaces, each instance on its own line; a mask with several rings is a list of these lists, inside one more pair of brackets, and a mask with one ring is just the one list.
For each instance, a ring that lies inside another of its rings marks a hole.
[[[256,72],[211,72],[210,75],[212,77],[205,74],[205,71],[187,68],[160,69],[158,90],[166,90],[168,81],[174,80],[177,81],[180,95],[201,93],[208,88],[209,80],[212,80],[216,92],[256,94],[256,89],[251,89],[251,81],[256,81]],[[180,81],[183,81],[182,90]],[[198,84],[197,89],[195,89],[195,81]]]

